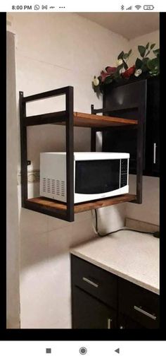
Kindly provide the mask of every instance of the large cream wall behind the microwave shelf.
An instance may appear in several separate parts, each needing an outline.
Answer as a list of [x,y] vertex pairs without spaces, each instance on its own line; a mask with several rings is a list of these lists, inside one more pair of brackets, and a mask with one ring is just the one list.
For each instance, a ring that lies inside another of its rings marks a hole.
[[[90,112],[102,106],[91,88],[102,66],[112,65],[128,41],[74,13],[12,13],[16,33],[16,93],[40,93],[65,85],[75,90],[75,111]],[[62,110],[64,102],[40,101],[28,114]],[[28,129],[28,159],[39,169],[39,152],[63,150],[61,126]],[[20,142],[20,141],[19,141]],[[17,143],[18,148],[20,143]],[[90,130],[75,129],[75,150],[90,149]],[[20,164],[18,162],[18,172]],[[29,196],[39,184],[29,183]],[[22,328],[70,328],[71,290],[69,247],[94,237],[91,213],[76,216],[74,223],[51,218],[20,207],[20,321]],[[125,204],[98,211],[101,230],[124,225]]]

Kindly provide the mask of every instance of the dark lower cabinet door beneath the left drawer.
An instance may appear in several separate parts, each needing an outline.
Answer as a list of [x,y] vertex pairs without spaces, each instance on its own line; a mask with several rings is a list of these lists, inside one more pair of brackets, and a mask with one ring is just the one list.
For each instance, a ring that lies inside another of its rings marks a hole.
[[72,329],[115,329],[116,312],[80,290],[72,290]]

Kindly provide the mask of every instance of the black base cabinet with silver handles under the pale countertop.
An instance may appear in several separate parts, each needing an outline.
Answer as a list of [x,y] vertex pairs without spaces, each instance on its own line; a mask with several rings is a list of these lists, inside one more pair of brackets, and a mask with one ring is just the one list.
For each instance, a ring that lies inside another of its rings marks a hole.
[[159,296],[71,255],[73,329],[158,329]]

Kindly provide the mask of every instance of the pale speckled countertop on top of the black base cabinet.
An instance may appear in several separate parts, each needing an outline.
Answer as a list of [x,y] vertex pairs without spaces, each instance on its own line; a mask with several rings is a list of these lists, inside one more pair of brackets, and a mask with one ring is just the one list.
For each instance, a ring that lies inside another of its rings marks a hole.
[[96,237],[70,252],[146,290],[160,294],[158,238],[123,230],[106,237]]

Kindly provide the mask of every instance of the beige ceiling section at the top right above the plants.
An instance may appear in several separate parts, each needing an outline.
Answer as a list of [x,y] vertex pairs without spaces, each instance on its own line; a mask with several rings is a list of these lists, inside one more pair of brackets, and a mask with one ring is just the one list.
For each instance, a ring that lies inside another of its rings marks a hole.
[[159,13],[78,13],[78,15],[129,40],[159,29]]

